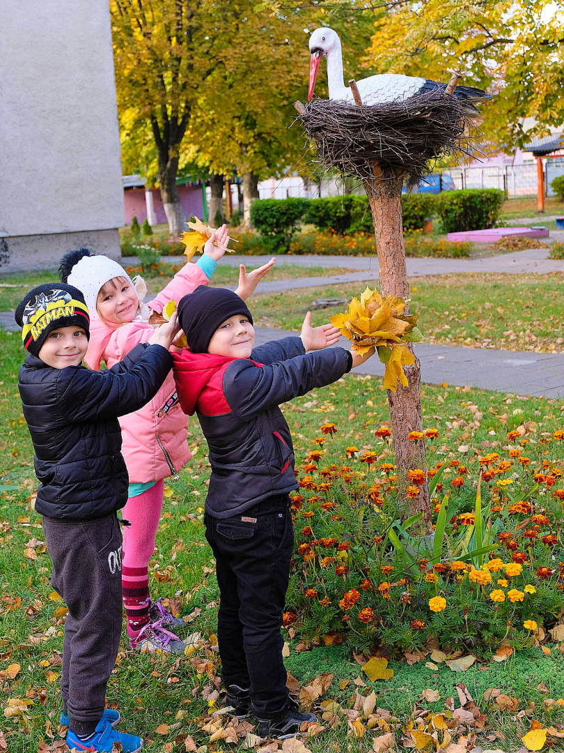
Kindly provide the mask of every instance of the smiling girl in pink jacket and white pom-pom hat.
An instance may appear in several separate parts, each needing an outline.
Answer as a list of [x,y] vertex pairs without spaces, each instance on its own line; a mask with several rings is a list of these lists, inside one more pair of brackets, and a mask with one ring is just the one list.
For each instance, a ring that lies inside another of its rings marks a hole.
[[[217,262],[229,242],[226,226],[217,230],[196,264],[185,264],[150,303],[143,303],[147,288],[143,279],[132,281],[116,261],[90,255],[86,248],[69,252],[59,271],[63,282],[82,291],[88,306],[90,340],[86,364],[111,368],[138,343],[149,340],[154,328],[150,313],[162,312],[169,300],[180,300],[198,285],[208,285]],[[247,274],[241,264],[237,294],[247,298],[274,264]],[[185,626],[149,594],[148,565],[155,549],[156,530],[162,511],[164,479],[176,475],[190,460],[186,441],[188,417],[178,404],[172,372],[152,401],[141,410],[120,418],[122,453],[129,471],[129,498],[123,519],[123,603],[127,633],[133,649],[182,654],[185,644],[172,632]]]

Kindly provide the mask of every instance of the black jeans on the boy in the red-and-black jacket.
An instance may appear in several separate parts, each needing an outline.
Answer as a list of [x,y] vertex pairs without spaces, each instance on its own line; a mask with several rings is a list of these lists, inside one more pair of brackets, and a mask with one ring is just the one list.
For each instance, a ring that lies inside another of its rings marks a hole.
[[217,641],[223,683],[250,687],[253,712],[272,719],[289,706],[280,635],[294,532],[288,495],[219,520],[205,515],[217,562]]

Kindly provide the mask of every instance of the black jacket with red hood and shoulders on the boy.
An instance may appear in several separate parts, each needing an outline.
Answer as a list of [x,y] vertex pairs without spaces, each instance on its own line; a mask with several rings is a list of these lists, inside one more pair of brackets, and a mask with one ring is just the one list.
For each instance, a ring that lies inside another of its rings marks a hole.
[[352,358],[343,348],[305,354],[299,337],[257,346],[250,358],[189,350],[173,355],[184,413],[196,413],[208,441],[206,511],[232,517],[296,489],[290,428],[280,404],[341,379]]

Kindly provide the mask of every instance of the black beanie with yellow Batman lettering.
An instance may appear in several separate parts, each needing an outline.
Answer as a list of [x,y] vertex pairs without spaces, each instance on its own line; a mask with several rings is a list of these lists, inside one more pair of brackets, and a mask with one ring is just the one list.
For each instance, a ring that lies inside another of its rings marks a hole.
[[90,317],[84,296],[72,285],[49,282],[38,285],[24,297],[14,319],[22,328],[23,346],[39,355],[45,338],[60,327],[80,327],[90,338]]

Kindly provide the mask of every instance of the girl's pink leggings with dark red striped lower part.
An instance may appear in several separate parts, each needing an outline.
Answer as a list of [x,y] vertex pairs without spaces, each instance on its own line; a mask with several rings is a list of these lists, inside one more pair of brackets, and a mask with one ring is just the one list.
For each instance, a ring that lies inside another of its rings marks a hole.
[[149,617],[149,560],[155,550],[156,529],[162,512],[164,480],[137,497],[129,497],[123,508],[123,575],[122,593],[126,607],[129,633],[150,621]]

